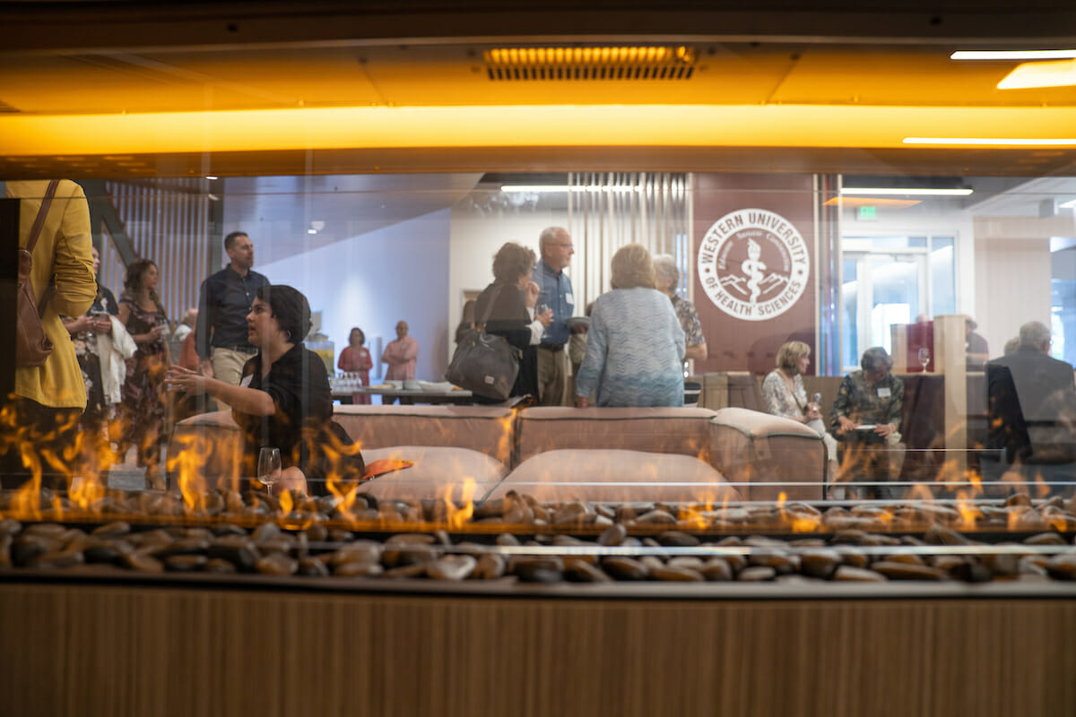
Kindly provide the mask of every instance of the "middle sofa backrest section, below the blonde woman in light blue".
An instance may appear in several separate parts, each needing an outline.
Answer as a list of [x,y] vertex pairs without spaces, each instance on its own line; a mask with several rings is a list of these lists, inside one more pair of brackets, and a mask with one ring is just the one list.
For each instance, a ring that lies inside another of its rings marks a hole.
[[562,408],[520,412],[519,461],[548,450],[620,448],[709,460],[709,408]]

